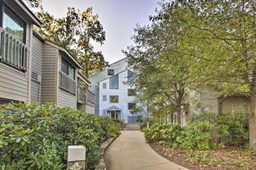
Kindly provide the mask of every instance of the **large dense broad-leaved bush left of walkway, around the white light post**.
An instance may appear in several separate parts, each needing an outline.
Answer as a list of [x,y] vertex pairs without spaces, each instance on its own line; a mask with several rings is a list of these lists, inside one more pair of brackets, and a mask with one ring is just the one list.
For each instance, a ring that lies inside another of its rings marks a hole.
[[113,135],[107,117],[53,104],[0,106],[0,169],[65,169],[68,145],[84,145],[87,168]]

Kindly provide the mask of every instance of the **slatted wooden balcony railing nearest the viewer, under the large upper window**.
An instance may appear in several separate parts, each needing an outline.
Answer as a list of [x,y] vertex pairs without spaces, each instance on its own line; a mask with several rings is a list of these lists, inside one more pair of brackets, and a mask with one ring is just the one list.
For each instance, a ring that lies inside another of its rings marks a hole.
[[0,60],[27,70],[28,47],[0,27]]

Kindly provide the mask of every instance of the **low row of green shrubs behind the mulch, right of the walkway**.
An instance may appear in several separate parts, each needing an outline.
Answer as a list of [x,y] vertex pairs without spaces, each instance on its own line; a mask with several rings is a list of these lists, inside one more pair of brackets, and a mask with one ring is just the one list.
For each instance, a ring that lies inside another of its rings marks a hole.
[[144,129],[146,141],[193,151],[208,150],[223,144],[245,144],[249,140],[243,114],[195,115],[188,126],[154,123]]

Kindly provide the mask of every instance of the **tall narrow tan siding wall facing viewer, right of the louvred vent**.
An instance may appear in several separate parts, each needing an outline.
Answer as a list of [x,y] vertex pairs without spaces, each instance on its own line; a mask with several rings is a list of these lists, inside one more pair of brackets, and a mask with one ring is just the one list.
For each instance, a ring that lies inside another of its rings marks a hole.
[[41,103],[54,103],[55,93],[55,56],[59,50],[43,44]]

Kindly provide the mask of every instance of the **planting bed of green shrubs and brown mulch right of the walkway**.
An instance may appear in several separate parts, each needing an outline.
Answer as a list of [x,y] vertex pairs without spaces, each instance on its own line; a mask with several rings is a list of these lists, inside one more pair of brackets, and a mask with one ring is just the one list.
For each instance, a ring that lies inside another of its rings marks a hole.
[[159,154],[168,155],[177,163],[183,159],[187,161],[183,166],[187,164],[190,169],[199,167],[188,166],[189,162],[202,166],[201,169],[209,169],[208,166],[254,169],[256,154],[248,146],[246,122],[243,114],[200,114],[194,115],[186,127],[154,123],[144,129],[144,135]]

